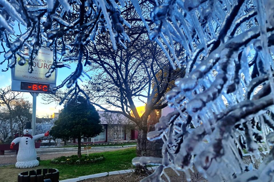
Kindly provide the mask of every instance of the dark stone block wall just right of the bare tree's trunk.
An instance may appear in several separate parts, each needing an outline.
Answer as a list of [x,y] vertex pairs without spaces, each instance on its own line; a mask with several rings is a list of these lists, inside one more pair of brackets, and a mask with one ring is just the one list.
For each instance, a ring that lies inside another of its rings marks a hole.
[[[154,125],[150,125],[148,131],[154,131]],[[146,141],[146,156],[162,157],[163,140]]]

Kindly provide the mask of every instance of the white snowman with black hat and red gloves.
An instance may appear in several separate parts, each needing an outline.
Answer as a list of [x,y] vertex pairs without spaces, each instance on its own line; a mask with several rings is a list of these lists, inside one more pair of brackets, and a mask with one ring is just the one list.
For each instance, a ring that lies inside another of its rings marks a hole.
[[16,168],[28,168],[35,167],[39,165],[39,161],[37,160],[37,154],[35,149],[34,141],[49,136],[49,131],[43,134],[31,136],[32,129],[31,123],[26,123],[26,127],[24,129],[24,136],[15,138],[11,142],[10,148],[13,149],[13,146],[19,143],[19,150],[17,154],[17,162],[15,164]]

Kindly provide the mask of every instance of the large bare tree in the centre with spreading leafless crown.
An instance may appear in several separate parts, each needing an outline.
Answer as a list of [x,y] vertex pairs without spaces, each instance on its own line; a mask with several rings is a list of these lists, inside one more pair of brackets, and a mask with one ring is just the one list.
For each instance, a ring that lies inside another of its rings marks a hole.
[[[147,12],[145,20],[150,24],[149,12],[152,5],[149,1],[141,3],[142,9]],[[94,106],[107,112],[122,114],[136,123],[139,131],[136,152],[138,156],[146,156],[149,154],[146,151],[149,115],[154,110],[167,106],[164,95],[168,89],[174,87],[176,78],[184,76],[185,69],[174,71],[162,49],[148,39],[148,32],[142,19],[138,18],[132,2],[121,7],[120,11],[121,16],[131,24],[131,28],[124,26],[130,41],[121,40],[123,44],[117,44],[114,49],[110,34],[98,32],[96,39],[86,46],[92,56],[87,58],[88,62],[84,60],[87,63],[84,66],[91,79],[82,84],[84,86],[77,86],[84,90]],[[65,42],[71,36],[72,34],[64,35]],[[177,56],[181,57],[183,52],[182,46],[178,46]],[[72,52],[65,56],[75,58],[77,54]],[[70,60],[73,61],[77,60]],[[58,90],[55,96],[48,94],[43,99],[47,103],[67,102],[77,93],[78,88],[75,87],[74,90]],[[146,104],[142,115],[137,112],[136,100]]]

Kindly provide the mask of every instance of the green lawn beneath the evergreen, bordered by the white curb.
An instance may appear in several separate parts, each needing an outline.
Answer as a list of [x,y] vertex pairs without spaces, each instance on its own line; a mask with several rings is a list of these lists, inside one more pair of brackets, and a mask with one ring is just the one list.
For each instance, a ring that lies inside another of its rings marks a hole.
[[103,154],[105,160],[94,164],[71,165],[71,164],[51,164],[50,160],[43,160],[40,165],[28,169],[16,169],[15,165],[0,167],[1,182],[17,181],[17,174],[23,171],[41,169],[41,168],[56,168],[60,171],[60,180],[70,179],[84,175],[118,171],[131,169],[131,160],[136,157],[136,148],[131,147],[124,150],[111,152],[100,152],[94,154]]

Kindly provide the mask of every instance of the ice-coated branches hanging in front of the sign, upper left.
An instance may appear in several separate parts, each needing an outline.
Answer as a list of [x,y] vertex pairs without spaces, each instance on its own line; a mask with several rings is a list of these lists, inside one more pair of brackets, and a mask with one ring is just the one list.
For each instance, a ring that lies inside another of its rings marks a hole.
[[[130,41],[123,27],[130,24],[120,15],[124,4],[106,0],[0,0],[0,41],[8,48],[4,55],[8,67],[17,64],[15,57],[19,55],[18,64],[28,62],[28,71],[32,73],[39,49],[49,47],[53,51],[53,63],[45,76],[50,77],[57,68],[69,68],[64,62],[78,60],[74,73],[54,90],[65,84],[73,87],[82,74],[87,75],[83,72],[82,61],[88,60],[89,53],[81,47],[93,46],[99,32],[105,34],[105,27],[114,49],[117,44],[125,47],[124,41]],[[14,31],[16,21],[21,34]],[[17,37],[15,41],[12,41],[13,36]],[[24,55],[24,49],[29,50],[28,55]],[[59,55],[64,57],[63,61],[59,60]],[[86,64],[89,61],[84,66]]]

